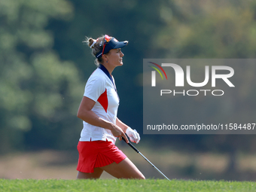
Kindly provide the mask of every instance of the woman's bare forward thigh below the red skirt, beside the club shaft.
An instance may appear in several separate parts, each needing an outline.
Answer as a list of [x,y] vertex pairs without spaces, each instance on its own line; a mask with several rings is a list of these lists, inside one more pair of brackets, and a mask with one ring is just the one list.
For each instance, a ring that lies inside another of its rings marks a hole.
[[125,158],[118,164],[114,162],[108,166],[102,166],[100,168],[115,178],[145,179],[142,172],[140,172],[139,169],[128,158]]

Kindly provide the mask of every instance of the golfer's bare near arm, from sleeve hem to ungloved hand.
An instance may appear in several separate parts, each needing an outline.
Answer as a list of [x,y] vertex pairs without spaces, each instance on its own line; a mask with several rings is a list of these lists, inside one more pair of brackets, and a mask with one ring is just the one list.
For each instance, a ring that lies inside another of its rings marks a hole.
[[123,129],[121,129],[118,125],[115,125],[114,123],[109,122],[108,120],[103,120],[98,115],[96,115],[92,110],[93,106],[96,102],[94,102],[92,99],[89,99],[88,97],[84,96],[81,104],[78,108],[78,118],[81,120],[84,120],[87,123],[90,123],[94,126],[99,126],[107,130],[111,130],[111,133],[115,137],[119,137],[119,140],[122,140],[123,138],[128,143],[128,139],[126,135],[123,132]]

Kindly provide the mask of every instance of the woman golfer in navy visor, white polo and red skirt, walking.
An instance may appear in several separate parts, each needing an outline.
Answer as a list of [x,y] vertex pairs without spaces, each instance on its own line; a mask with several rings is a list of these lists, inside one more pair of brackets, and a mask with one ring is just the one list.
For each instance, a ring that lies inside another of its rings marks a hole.
[[138,143],[139,133],[117,118],[119,97],[111,75],[114,68],[123,66],[120,48],[128,41],[104,35],[96,40],[87,38],[87,44],[96,56],[99,66],[87,81],[84,97],[78,108],[78,117],[84,127],[78,142],[77,178],[99,178],[108,172],[116,178],[145,179],[142,172],[118,149],[114,143],[117,137]]

